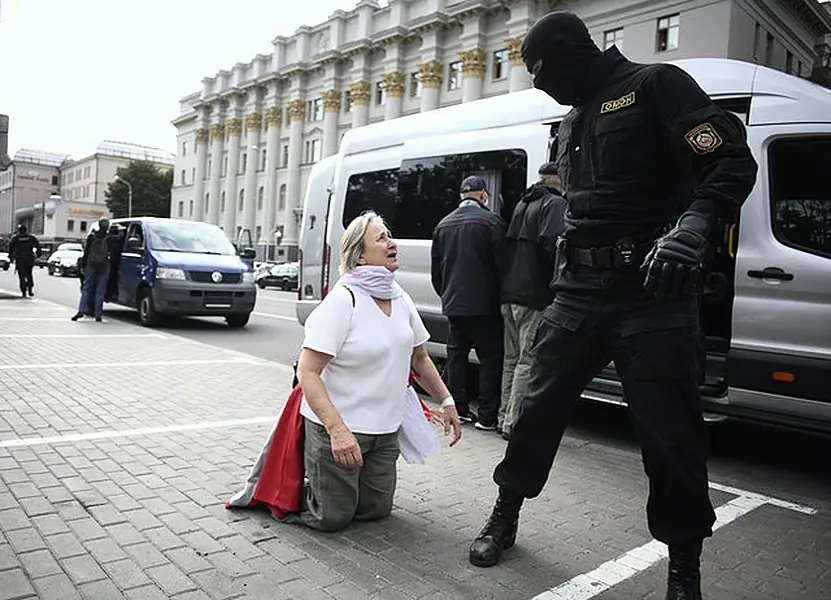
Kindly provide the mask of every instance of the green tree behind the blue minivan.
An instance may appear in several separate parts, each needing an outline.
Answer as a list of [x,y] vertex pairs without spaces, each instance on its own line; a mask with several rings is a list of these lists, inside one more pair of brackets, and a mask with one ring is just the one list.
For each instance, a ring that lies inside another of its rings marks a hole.
[[[133,186],[134,217],[170,216],[172,169],[146,160],[133,160],[126,167],[119,167],[116,175]],[[129,188],[123,181],[111,181],[104,198],[114,218],[129,216]]]

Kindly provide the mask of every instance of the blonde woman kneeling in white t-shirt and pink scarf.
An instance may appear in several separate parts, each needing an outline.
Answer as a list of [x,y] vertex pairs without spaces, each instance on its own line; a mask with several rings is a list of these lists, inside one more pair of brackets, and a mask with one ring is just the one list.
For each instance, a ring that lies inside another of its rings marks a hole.
[[461,436],[453,399],[424,344],[430,338],[395,282],[398,248],[375,213],[341,241],[341,278],[309,315],[297,365],[303,389],[303,508],[287,520],[337,531],[392,511],[410,368],[442,401],[445,434]]

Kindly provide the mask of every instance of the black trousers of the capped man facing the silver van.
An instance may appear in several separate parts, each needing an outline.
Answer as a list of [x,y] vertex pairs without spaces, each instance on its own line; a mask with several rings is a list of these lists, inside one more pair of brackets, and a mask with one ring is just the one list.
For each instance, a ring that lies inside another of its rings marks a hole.
[[496,423],[502,399],[504,337],[502,315],[448,317],[447,387],[459,414],[469,412],[466,382],[468,356],[472,348],[479,358],[479,421]]

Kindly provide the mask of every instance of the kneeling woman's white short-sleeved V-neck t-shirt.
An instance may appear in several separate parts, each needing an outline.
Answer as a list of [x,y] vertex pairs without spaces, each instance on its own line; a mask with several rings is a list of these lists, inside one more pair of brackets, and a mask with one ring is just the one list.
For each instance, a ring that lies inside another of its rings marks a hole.
[[[329,399],[353,433],[398,431],[413,348],[430,334],[404,292],[389,317],[365,291],[337,285],[306,320],[303,347],[332,356],[321,374]],[[304,396],[300,414],[320,423]]]

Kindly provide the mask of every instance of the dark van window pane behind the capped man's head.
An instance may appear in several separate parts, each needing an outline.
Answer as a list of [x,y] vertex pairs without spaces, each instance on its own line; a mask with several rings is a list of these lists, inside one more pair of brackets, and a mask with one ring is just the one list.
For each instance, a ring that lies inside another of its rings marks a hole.
[[429,240],[439,221],[459,205],[459,186],[468,175],[488,182],[489,208],[506,221],[525,191],[528,156],[523,150],[499,150],[405,160],[398,181],[393,236]]

